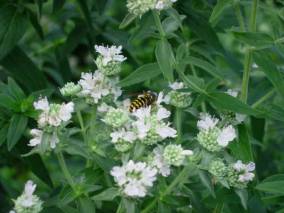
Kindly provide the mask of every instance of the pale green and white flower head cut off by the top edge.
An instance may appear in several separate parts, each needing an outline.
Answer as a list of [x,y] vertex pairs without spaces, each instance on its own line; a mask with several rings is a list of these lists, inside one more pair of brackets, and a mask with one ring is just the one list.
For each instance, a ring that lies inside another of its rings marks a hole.
[[164,10],[172,6],[177,0],[128,0],[128,11],[134,15],[142,16],[149,10]]

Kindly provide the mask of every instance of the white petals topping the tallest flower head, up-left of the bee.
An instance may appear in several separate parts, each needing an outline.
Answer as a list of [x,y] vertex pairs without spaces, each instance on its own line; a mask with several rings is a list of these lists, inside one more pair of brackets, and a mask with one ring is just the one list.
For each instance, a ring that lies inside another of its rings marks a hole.
[[122,46],[111,46],[111,47],[104,47],[95,45],[96,52],[99,53],[103,59],[103,65],[106,66],[109,62],[118,61],[123,62],[126,58],[121,55]]

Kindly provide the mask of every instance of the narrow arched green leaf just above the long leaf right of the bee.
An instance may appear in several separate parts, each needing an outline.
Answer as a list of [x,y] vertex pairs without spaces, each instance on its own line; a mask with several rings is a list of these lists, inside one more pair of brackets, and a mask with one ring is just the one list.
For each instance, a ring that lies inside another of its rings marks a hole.
[[206,71],[207,73],[211,74],[213,77],[223,80],[222,74],[209,62],[199,59],[193,56],[188,56],[184,60],[184,63],[191,64],[193,66],[199,67]]

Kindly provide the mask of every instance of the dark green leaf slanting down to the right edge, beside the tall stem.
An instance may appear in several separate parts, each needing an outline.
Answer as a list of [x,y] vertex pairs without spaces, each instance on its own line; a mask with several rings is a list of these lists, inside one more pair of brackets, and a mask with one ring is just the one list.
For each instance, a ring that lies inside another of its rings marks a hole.
[[253,56],[256,64],[265,73],[268,80],[273,84],[279,94],[284,97],[283,77],[276,65],[273,63],[273,60],[268,57],[264,51],[254,53]]

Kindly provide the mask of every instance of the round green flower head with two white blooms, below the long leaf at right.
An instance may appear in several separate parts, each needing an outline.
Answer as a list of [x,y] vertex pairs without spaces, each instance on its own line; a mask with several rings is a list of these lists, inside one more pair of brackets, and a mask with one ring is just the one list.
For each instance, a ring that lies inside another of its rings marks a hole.
[[209,114],[201,114],[197,122],[199,133],[197,140],[202,147],[210,152],[218,152],[236,138],[236,131],[232,125],[218,126],[219,119]]

